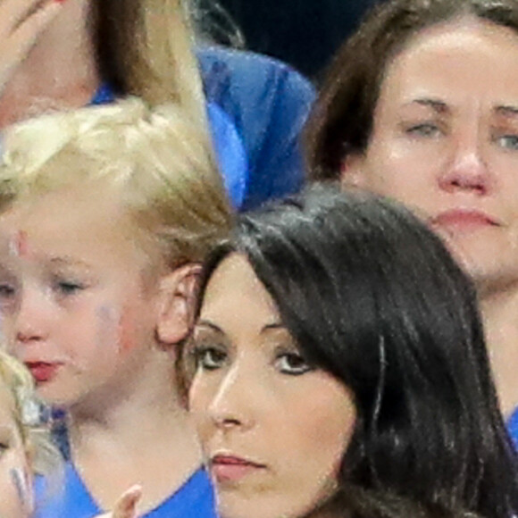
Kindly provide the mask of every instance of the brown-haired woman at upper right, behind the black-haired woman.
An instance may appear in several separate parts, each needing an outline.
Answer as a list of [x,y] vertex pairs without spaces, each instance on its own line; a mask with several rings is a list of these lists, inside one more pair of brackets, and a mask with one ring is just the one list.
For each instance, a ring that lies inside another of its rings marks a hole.
[[308,128],[315,179],[394,197],[447,234],[516,441],[517,60],[515,0],[388,0],[336,56]]

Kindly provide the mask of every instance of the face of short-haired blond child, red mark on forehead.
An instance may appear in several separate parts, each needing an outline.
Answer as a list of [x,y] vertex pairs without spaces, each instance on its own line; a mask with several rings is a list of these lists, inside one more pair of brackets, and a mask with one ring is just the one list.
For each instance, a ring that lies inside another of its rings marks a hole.
[[113,198],[67,188],[0,216],[2,331],[54,405],[110,405],[155,340],[157,289]]

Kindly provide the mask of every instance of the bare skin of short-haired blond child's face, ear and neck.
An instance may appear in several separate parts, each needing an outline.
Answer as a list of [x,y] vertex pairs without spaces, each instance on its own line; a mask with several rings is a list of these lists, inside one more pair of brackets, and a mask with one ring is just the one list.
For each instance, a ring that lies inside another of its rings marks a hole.
[[[100,192],[58,190],[2,215],[4,334],[22,362],[59,363],[38,393],[69,410],[71,456],[100,508],[137,483],[142,514],[201,464],[174,374],[196,267],[168,272],[155,256],[149,270],[125,209]],[[134,511],[135,491],[122,507]]]

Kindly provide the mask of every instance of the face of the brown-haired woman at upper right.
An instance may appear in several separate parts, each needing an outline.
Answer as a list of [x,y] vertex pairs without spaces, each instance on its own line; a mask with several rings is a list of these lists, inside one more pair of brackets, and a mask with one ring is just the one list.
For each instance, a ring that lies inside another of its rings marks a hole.
[[518,279],[518,35],[464,18],[388,65],[346,184],[394,197],[451,238],[481,283]]

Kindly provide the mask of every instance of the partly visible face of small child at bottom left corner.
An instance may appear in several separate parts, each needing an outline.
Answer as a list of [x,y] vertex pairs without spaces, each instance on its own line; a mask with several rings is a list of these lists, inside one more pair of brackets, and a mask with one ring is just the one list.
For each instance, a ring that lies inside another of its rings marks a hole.
[[0,380],[0,517],[28,517],[31,492],[28,456],[14,420],[13,397]]

